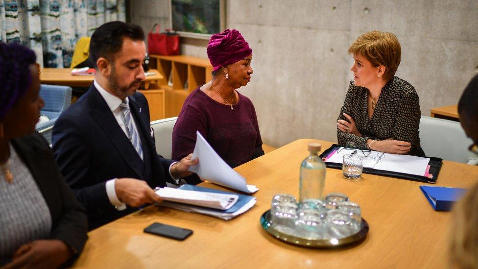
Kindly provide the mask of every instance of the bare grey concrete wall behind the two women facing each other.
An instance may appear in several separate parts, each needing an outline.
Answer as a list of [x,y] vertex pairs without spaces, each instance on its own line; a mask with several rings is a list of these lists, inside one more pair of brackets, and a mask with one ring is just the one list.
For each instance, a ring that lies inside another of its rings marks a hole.
[[[145,20],[132,16],[133,23]],[[347,49],[373,29],[398,37],[396,74],[417,90],[422,115],[456,104],[478,72],[477,24],[477,0],[226,1],[227,27],[239,29],[254,54],[251,82],[239,91],[254,102],[264,143],[276,147],[299,138],[336,141],[335,121],[353,78]],[[206,57],[206,46],[183,39],[182,52]]]

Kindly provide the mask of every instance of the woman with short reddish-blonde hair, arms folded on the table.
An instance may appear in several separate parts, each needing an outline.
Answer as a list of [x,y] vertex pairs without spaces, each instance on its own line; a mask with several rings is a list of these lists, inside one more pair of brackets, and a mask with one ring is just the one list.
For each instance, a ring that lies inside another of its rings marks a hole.
[[354,80],[337,120],[338,144],[424,156],[418,95],[410,83],[394,76],[402,53],[397,37],[371,31],[360,35],[349,53]]

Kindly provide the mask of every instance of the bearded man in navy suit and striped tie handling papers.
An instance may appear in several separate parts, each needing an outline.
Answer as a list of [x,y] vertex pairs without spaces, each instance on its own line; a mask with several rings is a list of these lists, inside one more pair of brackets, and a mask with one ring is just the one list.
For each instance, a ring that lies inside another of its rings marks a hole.
[[138,25],[97,28],[90,42],[95,81],[53,128],[56,161],[85,206],[90,229],[161,201],[152,188],[177,183],[197,163],[191,154],[173,162],[156,153],[148,103],[137,92],[145,79],[143,40]]

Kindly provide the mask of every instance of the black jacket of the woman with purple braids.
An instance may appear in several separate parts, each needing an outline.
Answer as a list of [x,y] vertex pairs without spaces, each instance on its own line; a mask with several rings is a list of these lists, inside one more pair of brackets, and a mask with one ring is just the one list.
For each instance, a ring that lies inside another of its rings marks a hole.
[[85,209],[66,184],[47,141],[38,133],[11,140],[38,185],[51,214],[51,239],[58,239],[77,251],[85,245],[87,219]]

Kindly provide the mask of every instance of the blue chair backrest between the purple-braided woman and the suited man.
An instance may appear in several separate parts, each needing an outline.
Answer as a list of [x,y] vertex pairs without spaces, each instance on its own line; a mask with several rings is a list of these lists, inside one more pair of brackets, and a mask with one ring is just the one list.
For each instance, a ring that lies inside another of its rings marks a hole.
[[45,107],[42,108],[41,114],[53,120],[58,118],[60,113],[72,103],[72,88],[42,84],[40,96],[45,101]]

